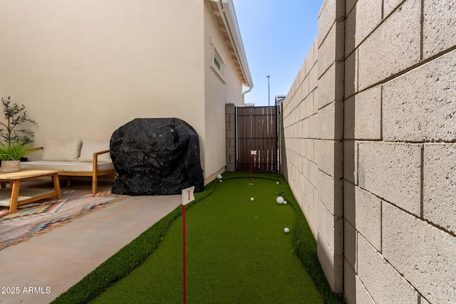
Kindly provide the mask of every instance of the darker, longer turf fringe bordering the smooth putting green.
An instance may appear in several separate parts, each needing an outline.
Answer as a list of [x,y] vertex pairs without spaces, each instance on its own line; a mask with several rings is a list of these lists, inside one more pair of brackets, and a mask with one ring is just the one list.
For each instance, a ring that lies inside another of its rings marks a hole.
[[[248,179],[249,174],[244,172],[225,172],[223,174],[224,180],[226,179]],[[304,217],[304,214],[301,211],[301,208],[294,199],[293,194],[291,193],[291,189],[289,185],[286,183],[286,180],[281,174],[272,174],[272,173],[254,173],[254,181],[257,179],[271,179],[273,182],[276,180],[280,181],[281,186],[279,190],[281,190],[282,194],[288,201],[289,206],[294,209],[295,213],[295,226],[294,229],[291,230],[290,234],[293,235],[293,243],[294,243],[294,251],[299,256],[299,259],[310,274],[312,280],[314,281],[316,288],[318,289],[319,293],[323,296],[324,303],[343,303],[343,298],[341,296],[336,295],[333,293],[331,288],[328,285],[328,281],[324,276],[323,270],[321,268],[320,263],[318,262],[317,257],[317,246],[316,240],[311,232],[309,224]],[[255,184],[255,183],[254,183]],[[203,192],[199,192],[195,194],[195,201],[187,205],[187,214],[190,213],[188,207],[192,206],[195,207],[199,204],[202,199],[210,198],[211,194],[214,193],[214,188],[218,189],[219,183],[217,180],[207,184],[204,187]],[[216,187],[217,186],[217,187]],[[274,189],[274,188],[271,188]],[[269,190],[268,190],[269,191]],[[94,271],[89,273],[86,277],[84,277],[81,281],[73,285],[70,289],[68,289],[65,293],[61,294],[53,300],[53,304],[55,303],[87,303],[89,300],[95,298],[100,293],[103,293],[106,288],[110,285],[113,285],[115,282],[120,280],[126,276],[128,278],[130,276],[130,272],[133,271],[137,266],[139,266],[145,259],[150,256],[150,253],[155,254],[155,249],[157,248],[158,244],[171,242],[173,245],[177,246],[174,253],[182,252],[182,240],[172,242],[170,238],[168,238],[168,228],[170,231],[172,229],[179,230],[179,227],[174,227],[176,225],[171,225],[175,220],[182,221],[179,219],[179,216],[182,214],[182,206],[177,207],[174,211],[170,214],[167,214],[164,218],[157,221],[153,226],[149,229],[144,231],[138,238],[133,240],[127,246],[122,248],[118,253],[115,253],[113,256],[108,258],[107,261],[102,263],[98,268]],[[187,215],[188,217],[188,215]],[[188,230],[187,224],[187,230]],[[174,227],[174,228],[173,228]],[[182,229],[182,226],[180,226]],[[182,231],[182,230],[180,230]],[[188,234],[189,232],[187,232]],[[163,236],[166,234],[166,238],[163,239]],[[162,240],[163,239],[163,240]],[[177,236],[179,239],[179,236]],[[169,240],[169,241],[168,241]],[[188,241],[188,240],[187,240]],[[179,245],[181,244],[181,245]],[[161,246],[160,246],[161,247]],[[159,248],[160,248],[159,247]],[[159,252],[157,250],[157,252]],[[188,253],[187,253],[188,254]],[[153,256],[153,254],[152,254]],[[182,256],[180,256],[182,257]],[[188,257],[187,257],[188,261]],[[243,261],[243,258],[240,260]],[[171,256],[166,256],[165,258],[160,261],[159,266],[170,270],[170,265],[173,265],[175,261],[172,260]],[[177,262],[181,263],[181,262]],[[188,263],[188,262],[187,262]],[[182,268],[180,269],[182,271]],[[188,271],[188,269],[187,269]],[[190,272],[191,273],[191,272]],[[134,276],[135,274],[132,274]],[[187,276],[190,276],[187,274]],[[157,281],[166,280],[166,278],[156,278]],[[141,280],[135,282],[136,285],[142,285],[144,288],[141,291],[136,291],[135,293],[131,293],[128,288],[123,292],[126,295],[130,295],[126,303],[135,303],[135,299],[141,297],[140,293],[144,293],[144,290],[152,290],[155,293],[165,293],[167,294],[166,300],[162,303],[180,303],[182,298],[180,298],[179,293],[175,293],[175,288],[180,288],[182,286],[181,283],[176,283],[175,286],[170,284],[165,284],[163,289],[159,289],[155,285],[150,285],[150,283],[142,283]],[[188,288],[188,287],[187,287]],[[279,282],[277,283],[274,290],[281,290],[281,285]],[[181,290],[182,291],[182,290]],[[204,294],[204,292],[202,292]],[[175,295],[173,298],[172,295]],[[100,299],[98,299],[100,300]],[[260,298],[257,298],[253,302],[259,303]],[[121,303],[122,301],[118,301],[117,299],[113,300],[114,303]],[[299,300],[296,303],[302,303],[304,300]],[[141,302],[141,300],[140,300]],[[144,303],[151,303],[150,299],[147,300],[142,299]],[[240,302],[240,301],[239,301]],[[269,301],[268,301],[269,302]],[[282,299],[280,303],[283,303],[284,300]],[[286,303],[287,301],[285,301]],[[305,302],[304,302],[305,303]]]

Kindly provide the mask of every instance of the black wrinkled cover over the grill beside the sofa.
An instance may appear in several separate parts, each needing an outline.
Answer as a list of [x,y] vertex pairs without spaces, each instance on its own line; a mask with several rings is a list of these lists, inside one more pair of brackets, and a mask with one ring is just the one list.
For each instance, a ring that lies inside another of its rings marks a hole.
[[204,189],[195,129],[178,118],[136,118],[115,130],[110,157],[115,194],[181,194]]

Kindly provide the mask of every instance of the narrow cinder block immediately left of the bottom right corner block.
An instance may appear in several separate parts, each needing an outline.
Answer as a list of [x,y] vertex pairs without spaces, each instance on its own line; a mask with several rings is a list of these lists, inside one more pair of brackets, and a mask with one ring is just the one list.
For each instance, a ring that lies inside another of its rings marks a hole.
[[356,230],[358,230],[359,233],[377,249],[377,251],[381,251],[382,201],[360,187],[356,187],[355,196]]

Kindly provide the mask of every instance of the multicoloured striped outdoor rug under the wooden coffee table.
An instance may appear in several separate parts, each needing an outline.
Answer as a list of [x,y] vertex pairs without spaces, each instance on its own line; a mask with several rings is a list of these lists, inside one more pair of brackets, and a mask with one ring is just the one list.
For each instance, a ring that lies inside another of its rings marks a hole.
[[[127,197],[112,194],[110,186],[111,184],[99,184],[100,192],[96,194],[92,194],[90,182],[70,188],[63,187],[61,199],[51,197],[18,206],[18,210],[11,214],[8,207],[0,206],[0,250]],[[47,180],[23,182],[21,188],[23,187],[31,191],[53,188]]]

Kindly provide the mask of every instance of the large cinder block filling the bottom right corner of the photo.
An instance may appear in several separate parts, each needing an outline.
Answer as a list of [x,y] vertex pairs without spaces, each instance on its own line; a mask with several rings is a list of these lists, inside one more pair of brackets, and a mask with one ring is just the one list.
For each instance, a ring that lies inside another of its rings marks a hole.
[[385,259],[430,303],[452,303],[456,286],[455,236],[386,203],[382,222]]

